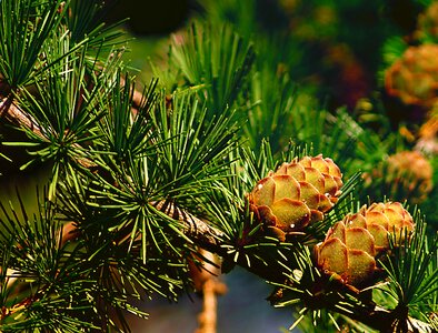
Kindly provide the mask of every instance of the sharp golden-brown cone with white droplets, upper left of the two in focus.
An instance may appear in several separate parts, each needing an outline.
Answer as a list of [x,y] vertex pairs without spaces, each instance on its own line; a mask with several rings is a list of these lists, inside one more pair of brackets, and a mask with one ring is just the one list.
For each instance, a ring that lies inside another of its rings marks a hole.
[[249,194],[256,219],[280,240],[321,221],[337,202],[342,174],[331,159],[305,157],[283,163],[260,180]]

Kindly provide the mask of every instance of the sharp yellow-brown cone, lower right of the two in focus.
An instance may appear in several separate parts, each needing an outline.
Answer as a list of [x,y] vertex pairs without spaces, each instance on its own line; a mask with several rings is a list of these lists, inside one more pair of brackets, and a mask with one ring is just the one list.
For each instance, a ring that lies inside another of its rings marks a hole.
[[378,270],[376,258],[389,249],[389,233],[395,233],[397,243],[405,229],[412,232],[414,220],[399,202],[365,205],[337,222],[315,246],[317,266],[347,285],[366,286]]

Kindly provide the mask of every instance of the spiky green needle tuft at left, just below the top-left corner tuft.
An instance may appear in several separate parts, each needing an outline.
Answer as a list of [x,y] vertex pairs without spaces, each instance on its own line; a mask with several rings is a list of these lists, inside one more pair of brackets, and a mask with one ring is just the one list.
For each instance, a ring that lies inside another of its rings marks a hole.
[[23,112],[29,114],[32,128],[22,130],[28,142],[9,142],[9,145],[27,145],[31,160],[26,169],[34,163],[52,163],[52,180],[49,199],[56,193],[59,176],[70,172],[84,158],[83,147],[98,138],[93,128],[101,118],[97,108],[98,89],[87,91],[84,52],[76,61],[58,67],[47,79],[37,82],[38,97],[24,91],[19,98]]

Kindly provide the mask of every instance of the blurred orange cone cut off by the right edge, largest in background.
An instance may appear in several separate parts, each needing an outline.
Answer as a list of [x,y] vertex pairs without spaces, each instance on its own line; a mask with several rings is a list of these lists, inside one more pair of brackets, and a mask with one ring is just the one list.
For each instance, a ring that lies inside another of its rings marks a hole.
[[385,74],[390,95],[406,104],[430,108],[438,101],[438,46],[408,48]]

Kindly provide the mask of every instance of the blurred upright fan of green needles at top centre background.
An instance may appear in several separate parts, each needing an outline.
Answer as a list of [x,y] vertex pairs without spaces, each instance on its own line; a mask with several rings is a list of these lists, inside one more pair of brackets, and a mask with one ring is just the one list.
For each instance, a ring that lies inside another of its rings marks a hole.
[[252,44],[227,24],[193,22],[187,36],[175,37],[169,51],[171,69],[180,71],[186,87],[201,88],[211,114],[239,107],[240,88],[253,60]]

